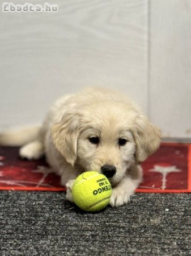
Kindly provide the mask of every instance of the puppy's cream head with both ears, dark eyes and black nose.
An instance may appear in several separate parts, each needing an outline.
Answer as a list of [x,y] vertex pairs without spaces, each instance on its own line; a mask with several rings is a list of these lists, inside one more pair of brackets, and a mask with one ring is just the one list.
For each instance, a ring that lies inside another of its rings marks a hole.
[[52,127],[53,142],[72,166],[103,173],[117,184],[159,146],[160,131],[120,102],[96,102],[66,112]]

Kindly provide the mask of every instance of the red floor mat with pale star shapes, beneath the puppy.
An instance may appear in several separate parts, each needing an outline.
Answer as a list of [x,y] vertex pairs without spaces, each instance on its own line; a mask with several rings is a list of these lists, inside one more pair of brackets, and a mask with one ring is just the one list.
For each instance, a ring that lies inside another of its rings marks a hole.
[[[60,177],[41,174],[45,159],[18,157],[18,147],[0,147],[0,189],[65,191]],[[144,163],[143,183],[137,192],[191,192],[191,144],[163,143]]]

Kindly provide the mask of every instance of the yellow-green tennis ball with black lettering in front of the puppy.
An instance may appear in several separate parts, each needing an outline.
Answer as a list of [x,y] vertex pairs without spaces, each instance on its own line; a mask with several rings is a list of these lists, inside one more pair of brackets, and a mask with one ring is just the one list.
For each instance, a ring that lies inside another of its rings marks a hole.
[[72,194],[74,203],[79,208],[86,212],[94,212],[107,207],[112,195],[112,187],[103,174],[88,171],[75,179]]

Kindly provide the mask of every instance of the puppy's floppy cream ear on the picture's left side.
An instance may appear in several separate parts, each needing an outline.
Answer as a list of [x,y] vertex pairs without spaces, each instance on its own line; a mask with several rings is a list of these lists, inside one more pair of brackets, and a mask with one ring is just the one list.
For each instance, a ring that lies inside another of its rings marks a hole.
[[79,117],[75,114],[65,114],[61,121],[51,128],[53,143],[66,161],[74,166],[77,159],[77,141],[79,137]]

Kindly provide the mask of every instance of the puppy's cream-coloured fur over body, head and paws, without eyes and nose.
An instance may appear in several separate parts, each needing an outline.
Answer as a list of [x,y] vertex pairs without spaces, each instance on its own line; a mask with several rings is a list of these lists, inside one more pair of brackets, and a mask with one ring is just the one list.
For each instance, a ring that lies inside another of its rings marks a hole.
[[[99,137],[98,144],[89,141]],[[124,146],[119,139],[128,141]],[[1,142],[0,142],[1,143]],[[44,153],[73,201],[73,181],[84,171],[101,172],[105,164],[116,167],[110,177],[110,204],[129,201],[142,180],[139,163],[160,143],[160,130],[126,98],[108,89],[86,89],[57,100],[46,115],[37,138],[20,149],[20,156],[40,158]]]

